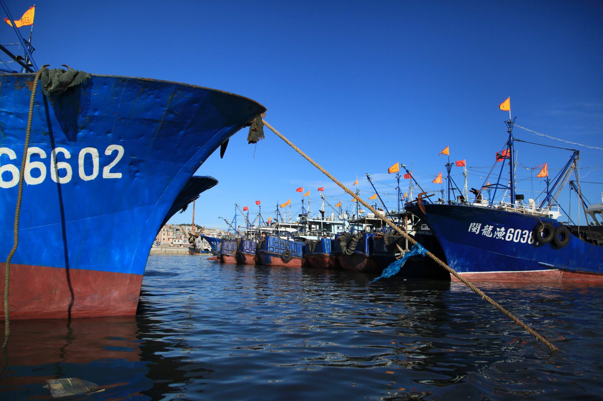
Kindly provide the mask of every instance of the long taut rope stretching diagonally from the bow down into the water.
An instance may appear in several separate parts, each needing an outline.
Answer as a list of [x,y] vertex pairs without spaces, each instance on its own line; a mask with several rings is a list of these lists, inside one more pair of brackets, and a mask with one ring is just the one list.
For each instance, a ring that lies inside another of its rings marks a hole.
[[[297,148],[297,146],[293,145],[291,143],[291,141],[289,141],[287,138],[285,138],[279,131],[277,131],[276,129],[274,129],[273,126],[271,126],[270,124],[268,124],[265,120],[264,120],[264,125],[267,126],[268,128],[270,128],[276,135],[278,135],[283,141],[285,141],[287,143],[287,145],[291,146],[291,148],[293,148],[298,154],[302,155],[306,160],[308,160],[310,163],[312,163],[314,165],[314,167],[316,167],[318,170],[320,170],[324,175],[326,175],[327,177],[329,177],[330,179],[332,179],[333,182],[335,182],[335,184],[339,185],[339,187],[343,188],[344,191],[346,191],[347,193],[349,193],[350,195],[352,195],[352,197],[354,197],[356,200],[358,200],[358,202],[360,202],[362,205],[364,205],[365,207],[367,207],[368,210],[370,210],[371,212],[373,212],[375,214],[375,216],[379,216],[381,220],[384,220],[385,223],[387,223],[393,229],[395,229],[397,232],[399,232],[399,234],[403,235],[412,244],[416,244],[417,243],[417,241],[415,241],[414,238],[410,237],[408,234],[406,234],[406,232],[402,231],[402,229],[400,229],[397,225],[395,225],[393,222],[391,222],[389,219],[387,219],[387,217],[382,216],[382,214],[380,214],[379,212],[377,212],[373,207],[371,207],[371,205],[367,204],[367,202],[365,202],[362,199],[360,199],[360,197],[358,197],[349,188],[347,188],[346,185],[342,184],[335,177],[333,177],[332,175],[330,175],[329,172],[327,172],[325,169],[323,169],[323,167],[321,167],[320,165],[318,165],[318,163],[316,163],[308,155],[306,155],[299,148]],[[499,311],[503,312],[507,317],[509,317],[511,320],[513,320],[513,322],[517,323],[517,325],[519,325],[523,329],[525,329],[525,331],[527,331],[529,334],[531,334],[534,337],[536,337],[542,343],[545,343],[545,345],[547,347],[549,347],[550,349],[552,349],[554,351],[558,350],[558,348],[556,346],[554,346],[553,344],[551,344],[548,340],[546,340],[546,338],[542,337],[540,334],[538,334],[537,332],[535,332],[533,329],[529,328],[525,323],[521,322],[519,319],[517,319],[515,316],[513,316],[513,314],[511,314],[511,312],[507,311],[507,309],[505,309],[502,306],[500,306],[499,303],[497,303],[496,301],[494,301],[493,299],[491,299],[489,296],[487,296],[486,294],[484,294],[481,290],[479,290],[479,288],[475,287],[475,285],[471,284],[465,278],[461,277],[458,273],[455,272],[455,270],[453,270],[446,263],[444,263],[443,261],[441,261],[433,253],[431,253],[431,252],[428,251],[427,255],[430,258],[432,258],[435,261],[435,263],[439,264],[441,267],[443,267],[444,269],[446,269],[450,274],[452,274],[453,276],[455,276],[456,278],[458,278],[459,281],[463,282],[465,285],[467,285],[469,288],[471,288],[476,294],[478,294],[479,296],[481,296],[482,299],[487,300],[496,309],[498,309]]]

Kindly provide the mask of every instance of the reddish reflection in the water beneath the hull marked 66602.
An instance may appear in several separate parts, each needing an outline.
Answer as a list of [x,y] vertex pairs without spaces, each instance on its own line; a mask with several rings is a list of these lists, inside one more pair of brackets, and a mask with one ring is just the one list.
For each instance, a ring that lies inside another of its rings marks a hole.
[[[147,399],[133,317],[12,320],[2,356],[2,399],[51,399],[48,379],[79,378],[104,389],[95,399]],[[86,399],[86,396],[80,396]]]

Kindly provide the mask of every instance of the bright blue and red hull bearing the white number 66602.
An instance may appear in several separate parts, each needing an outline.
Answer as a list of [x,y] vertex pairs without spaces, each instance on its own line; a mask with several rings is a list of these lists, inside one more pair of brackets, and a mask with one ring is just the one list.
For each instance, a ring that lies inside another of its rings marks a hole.
[[[0,75],[3,261],[13,245],[33,77]],[[153,238],[178,194],[265,108],[194,85],[92,75],[58,96],[38,87],[33,111],[11,261],[16,319],[134,314]]]

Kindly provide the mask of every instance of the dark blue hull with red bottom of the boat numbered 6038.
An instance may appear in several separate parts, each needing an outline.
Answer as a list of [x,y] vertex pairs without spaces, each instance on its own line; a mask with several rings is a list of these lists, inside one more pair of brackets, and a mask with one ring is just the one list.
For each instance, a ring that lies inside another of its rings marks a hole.
[[603,247],[569,235],[560,247],[540,243],[532,232],[539,220],[557,220],[469,205],[406,207],[431,228],[447,264],[473,281],[603,282]]

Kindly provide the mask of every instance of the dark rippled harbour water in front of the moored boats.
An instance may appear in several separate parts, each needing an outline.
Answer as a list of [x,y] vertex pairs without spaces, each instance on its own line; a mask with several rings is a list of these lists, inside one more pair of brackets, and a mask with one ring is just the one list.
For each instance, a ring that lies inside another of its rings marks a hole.
[[13,320],[0,399],[601,399],[603,286],[479,285],[150,255],[134,317]]

